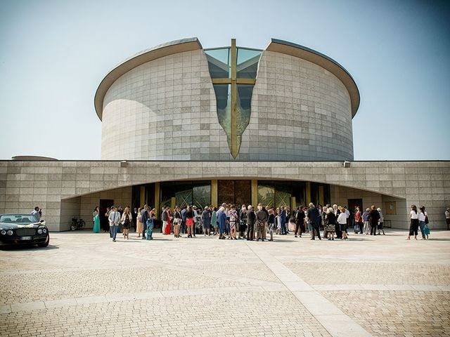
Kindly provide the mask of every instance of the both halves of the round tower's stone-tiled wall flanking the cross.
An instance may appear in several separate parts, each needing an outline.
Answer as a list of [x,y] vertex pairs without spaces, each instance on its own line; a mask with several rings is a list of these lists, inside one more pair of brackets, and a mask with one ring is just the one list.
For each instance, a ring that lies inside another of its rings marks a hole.
[[[238,160],[353,160],[349,92],[307,60],[263,51]],[[103,100],[104,160],[233,160],[202,49],[129,70]]]

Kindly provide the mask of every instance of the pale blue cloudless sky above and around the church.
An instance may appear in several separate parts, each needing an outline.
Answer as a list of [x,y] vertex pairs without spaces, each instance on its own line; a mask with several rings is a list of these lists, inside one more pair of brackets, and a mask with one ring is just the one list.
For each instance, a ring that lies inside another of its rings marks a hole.
[[[450,1],[0,0],[0,159],[100,159],[98,84],[184,37],[315,49],[361,93],[355,160],[450,159]],[[126,122],[126,121],[124,121]]]

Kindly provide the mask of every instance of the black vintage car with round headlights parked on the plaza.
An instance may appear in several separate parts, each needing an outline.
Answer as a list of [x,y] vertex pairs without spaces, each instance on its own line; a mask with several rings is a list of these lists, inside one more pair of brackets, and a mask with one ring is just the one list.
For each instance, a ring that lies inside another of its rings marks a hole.
[[0,245],[49,246],[49,228],[32,214],[1,214]]

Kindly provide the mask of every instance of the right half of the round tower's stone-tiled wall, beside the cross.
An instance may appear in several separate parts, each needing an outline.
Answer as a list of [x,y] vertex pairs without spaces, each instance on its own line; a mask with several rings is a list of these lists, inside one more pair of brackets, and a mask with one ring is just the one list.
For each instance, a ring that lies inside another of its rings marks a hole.
[[344,84],[319,65],[263,51],[238,159],[353,160]]

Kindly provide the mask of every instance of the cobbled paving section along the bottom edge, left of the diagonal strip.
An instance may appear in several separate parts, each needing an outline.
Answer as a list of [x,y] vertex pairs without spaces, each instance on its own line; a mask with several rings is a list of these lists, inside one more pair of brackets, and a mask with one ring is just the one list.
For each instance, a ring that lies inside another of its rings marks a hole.
[[[0,315],[0,336],[330,336],[290,293],[181,296]],[[264,310],[263,310],[264,308]],[[283,313],[280,315],[280,308]],[[48,325],[49,324],[49,325]],[[27,329],[25,329],[25,326]]]

